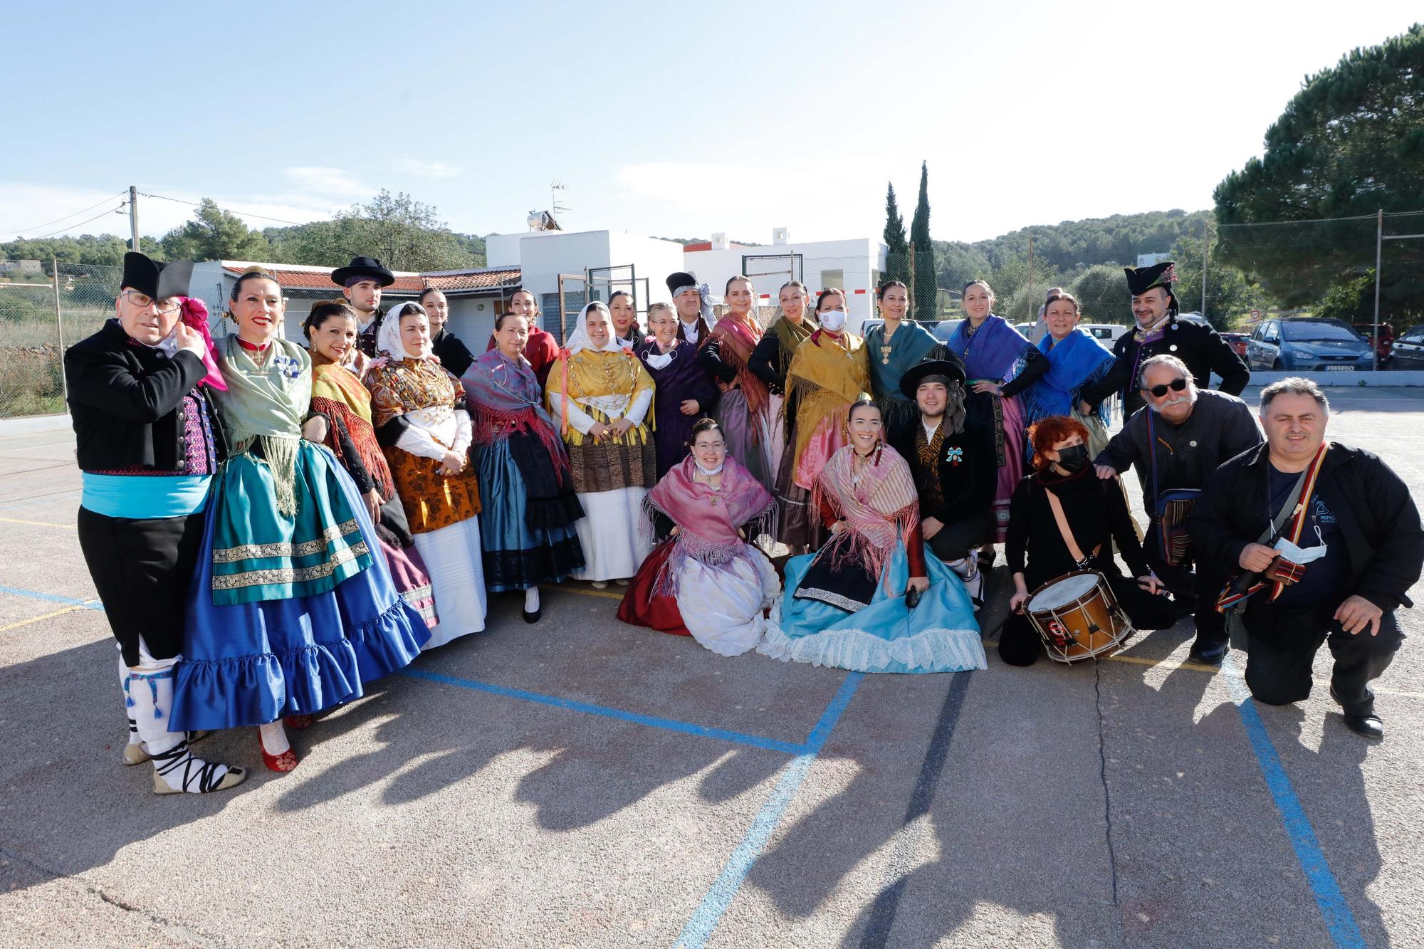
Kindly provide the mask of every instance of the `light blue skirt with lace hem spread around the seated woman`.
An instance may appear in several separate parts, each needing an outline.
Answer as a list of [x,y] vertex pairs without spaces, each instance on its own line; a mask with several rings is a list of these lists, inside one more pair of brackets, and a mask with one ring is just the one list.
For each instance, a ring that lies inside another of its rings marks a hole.
[[[786,593],[756,651],[783,661],[833,665],[860,673],[961,673],[987,668],[974,606],[958,576],[926,556],[930,587],[911,610],[904,603],[910,561],[897,541],[869,606],[847,611],[822,600],[796,598],[816,553],[786,561]],[[883,581],[883,580],[887,580]],[[886,593],[886,588],[894,596]]]

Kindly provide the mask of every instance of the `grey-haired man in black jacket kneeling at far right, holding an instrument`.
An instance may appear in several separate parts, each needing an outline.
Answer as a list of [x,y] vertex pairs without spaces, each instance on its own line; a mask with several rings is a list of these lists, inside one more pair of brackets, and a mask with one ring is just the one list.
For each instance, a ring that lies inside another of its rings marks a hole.
[[1237,576],[1223,603],[1237,597],[1232,644],[1249,651],[1252,695],[1270,705],[1307,698],[1324,643],[1344,724],[1381,738],[1368,683],[1404,641],[1394,610],[1413,606],[1407,591],[1424,564],[1424,529],[1408,486],[1383,460],[1326,443],[1329,416],[1324,393],[1307,379],[1266,386],[1266,445],[1206,479],[1188,524],[1202,557]]

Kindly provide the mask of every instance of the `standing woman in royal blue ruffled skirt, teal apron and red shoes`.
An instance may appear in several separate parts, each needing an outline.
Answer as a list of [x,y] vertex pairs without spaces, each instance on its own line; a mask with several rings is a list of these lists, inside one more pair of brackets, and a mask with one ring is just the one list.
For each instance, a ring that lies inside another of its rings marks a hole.
[[215,393],[232,439],[214,480],[188,596],[175,730],[258,725],[272,771],[296,767],[283,730],[356,698],[413,660],[430,631],[396,593],[366,506],[332,453],[300,437],[312,396],[306,351],[276,338],[276,281],[232,289]]

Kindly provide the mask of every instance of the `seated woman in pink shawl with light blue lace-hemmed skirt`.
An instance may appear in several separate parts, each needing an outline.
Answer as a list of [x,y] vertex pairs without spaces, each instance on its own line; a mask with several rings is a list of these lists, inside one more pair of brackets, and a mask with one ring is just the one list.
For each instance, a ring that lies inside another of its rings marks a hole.
[[832,537],[786,563],[786,594],[758,651],[862,673],[985,668],[964,584],[924,556],[914,479],[880,437],[880,409],[862,396],[849,420],[850,445],[815,490]]

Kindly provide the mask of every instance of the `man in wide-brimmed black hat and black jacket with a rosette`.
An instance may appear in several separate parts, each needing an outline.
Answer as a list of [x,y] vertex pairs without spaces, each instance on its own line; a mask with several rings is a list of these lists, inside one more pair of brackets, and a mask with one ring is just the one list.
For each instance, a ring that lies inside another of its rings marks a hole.
[[965,416],[958,362],[926,359],[904,373],[900,390],[920,406],[920,422],[889,437],[914,476],[924,543],[964,580],[978,608],[978,547],[994,539],[994,433]]

